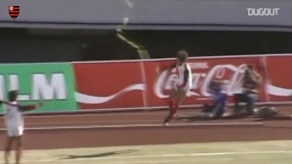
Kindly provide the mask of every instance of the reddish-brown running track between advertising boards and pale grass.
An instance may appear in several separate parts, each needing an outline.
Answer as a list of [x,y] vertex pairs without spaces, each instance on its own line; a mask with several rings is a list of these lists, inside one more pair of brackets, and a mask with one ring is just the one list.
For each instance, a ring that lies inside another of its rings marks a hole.
[[[283,109],[290,110],[290,109]],[[188,113],[190,111],[187,111]],[[181,111],[180,113],[185,113]],[[288,140],[292,139],[292,121],[264,121],[257,125],[225,125],[238,122],[259,123],[254,118],[228,120],[197,120],[192,123],[203,123],[200,126],[160,126],[167,111],[134,112],[111,114],[79,114],[54,116],[25,116],[25,128],[42,127],[76,127],[95,126],[95,128],[76,129],[32,129],[26,130],[25,149],[56,149],[70,147],[97,147],[141,144],[171,144],[191,142],[223,142],[249,140]],[[4,119],[0,118],[0,149],[4,149],[6,131]],[[173,121],[188,123],[188,120]],[[156,126],[131,126],[131,125]],[[209,125],[208,125],[209,124]],[[128,125],[110,127],[113,125]],[[107,128],[98,128],[107,126]]]

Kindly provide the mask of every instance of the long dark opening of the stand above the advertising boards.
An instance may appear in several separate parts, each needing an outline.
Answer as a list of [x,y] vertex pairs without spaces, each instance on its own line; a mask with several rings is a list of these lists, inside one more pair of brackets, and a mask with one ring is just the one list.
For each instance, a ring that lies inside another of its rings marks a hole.
[[[125,31],[150,58],[292,52],[291,33],[255,31]],[[139,59],[114,30],[0,29],[1,63]],[[9,55],[7,55],[9,54]]]

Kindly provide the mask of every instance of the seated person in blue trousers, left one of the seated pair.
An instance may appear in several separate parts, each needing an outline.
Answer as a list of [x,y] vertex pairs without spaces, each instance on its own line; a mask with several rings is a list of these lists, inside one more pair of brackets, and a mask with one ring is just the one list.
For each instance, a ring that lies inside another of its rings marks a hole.
[[205,117],[214,119],[223,116],[228,98],[227,94],[222,91],[223,85],[224,82],[222,81],[212,81],[210,83],[209,89],[212,93],[213,102],[204,105],[202,112]]

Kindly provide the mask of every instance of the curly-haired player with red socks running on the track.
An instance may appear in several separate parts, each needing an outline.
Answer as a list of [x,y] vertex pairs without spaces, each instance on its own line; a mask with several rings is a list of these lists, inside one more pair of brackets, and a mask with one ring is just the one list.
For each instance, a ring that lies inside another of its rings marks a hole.
[[178,110],[178,107],[187,92],[192,87],[192,72],[189,64],[187,64],[188,53],[185,50],[181,50],[177,52],[176,57],[176,69],[178,71],[179,78],[175,81],[175,84],[171,90],[171,94],[169,95],[169,114],[164,119],[163,124],[168,125],[169,121],[173,118],[173,115]]

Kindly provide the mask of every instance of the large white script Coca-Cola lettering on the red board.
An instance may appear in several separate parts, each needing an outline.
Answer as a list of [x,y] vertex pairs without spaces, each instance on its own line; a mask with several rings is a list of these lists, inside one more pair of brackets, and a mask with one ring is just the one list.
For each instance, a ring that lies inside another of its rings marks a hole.
[[[224,91],[229,96],[236,92],[241,92],[245,69],[246,64],[241,64],[238,67],[231,64],[224,64],[214,66],[207,73],[193,72],[192,88],[187,93],[187,96],[211,96],[208,92],[208,86],[214,78],[217,80],[226,80],[227,83],[224,86]],[[174,70],[171,71],[170,75],[168,70],[160,73],[154,84],[154,92],[159,98],[168,97],[168,94],[166,94],[165,91],[171,90],[174,81],[178,78],[178,75],[174,74]],[[230,72],[231,74],[227,75],[227,72]]]

